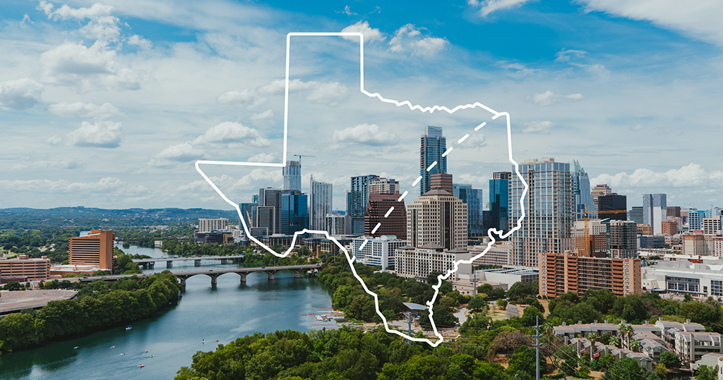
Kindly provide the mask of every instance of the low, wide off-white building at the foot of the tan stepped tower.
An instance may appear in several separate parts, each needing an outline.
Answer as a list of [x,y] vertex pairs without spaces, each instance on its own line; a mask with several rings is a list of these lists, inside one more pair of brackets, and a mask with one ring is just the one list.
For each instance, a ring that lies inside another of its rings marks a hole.
[[[403,277],[426,279],[432,272],[446,273],[454,270],[455,262],[471,259],[466,249],[445,250],[437,243],[427,243],[419,248],[402,246],[395,251],[394,271]],[[449,281],[469,280],[472,264],[459,264],[458,270],[448,277]]]

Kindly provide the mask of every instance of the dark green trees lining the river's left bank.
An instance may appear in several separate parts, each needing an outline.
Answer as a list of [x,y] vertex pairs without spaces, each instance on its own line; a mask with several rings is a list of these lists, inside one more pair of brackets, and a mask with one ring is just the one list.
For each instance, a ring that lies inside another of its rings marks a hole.
[[38,311],[26,309],[0,317],[0,353],[145,318],[175,302],[180,290],[168,271],[73,286],[78,289],[77,299],[50,301]]

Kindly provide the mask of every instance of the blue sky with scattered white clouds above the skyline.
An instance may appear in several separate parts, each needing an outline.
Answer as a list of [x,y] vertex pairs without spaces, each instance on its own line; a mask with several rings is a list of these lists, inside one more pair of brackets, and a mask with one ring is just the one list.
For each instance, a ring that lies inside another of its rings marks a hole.
[[[0,3],[0,208],[230,206],[196,160],[281,163],[286,34],[361,32],[369,92],[510,113],[513,157],[578,160],[640,206],[721,207],[723,4],[716,0],[27,1]],[[442,126],[455,183],[509,171],[504,121],[359,92],[359,40],[294,37],[288,159],[333,183],[416,191]],[[206,165],[234,202],[280,169]],[[409,199],[411,200],[411,199]]]

